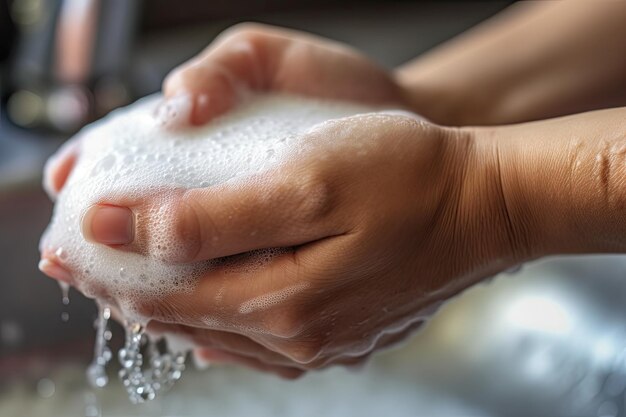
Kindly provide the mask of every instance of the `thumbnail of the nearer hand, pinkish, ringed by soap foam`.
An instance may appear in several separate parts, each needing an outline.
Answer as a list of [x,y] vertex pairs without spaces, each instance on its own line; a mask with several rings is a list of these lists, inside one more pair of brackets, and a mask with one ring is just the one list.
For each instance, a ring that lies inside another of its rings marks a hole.
[[90,242],[126,245],[135,238],[135,218],[126,207],[95,205],[83,216],[81,231]]

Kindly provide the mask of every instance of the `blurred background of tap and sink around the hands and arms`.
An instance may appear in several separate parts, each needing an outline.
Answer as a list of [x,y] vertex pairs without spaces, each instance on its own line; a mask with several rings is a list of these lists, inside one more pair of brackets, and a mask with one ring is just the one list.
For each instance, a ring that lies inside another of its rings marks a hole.
[[[37,270],[52,209],[45,159],[158,91],[224,28],[259,21],[337,39],[393,68],[510,2],[0,0],[0,416],[625,416],[626,260],[550,259],[475,287],[358,372],[296,382],[190,369],[163,399],[94,391],[93,303]],[[114,345],[122,331],[114,329]],[[112,371],[114,372],[114,371]]]

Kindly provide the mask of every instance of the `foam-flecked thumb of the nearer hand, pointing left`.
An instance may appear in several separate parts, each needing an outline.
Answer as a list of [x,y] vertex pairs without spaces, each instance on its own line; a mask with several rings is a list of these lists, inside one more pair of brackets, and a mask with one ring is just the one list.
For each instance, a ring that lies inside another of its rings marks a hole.
[[160,254],[174,263],[195,262],[345,232],[333,219],[329,190],[285,169],[140,204],[104,202],[86,212],[81,226],[91,242]]

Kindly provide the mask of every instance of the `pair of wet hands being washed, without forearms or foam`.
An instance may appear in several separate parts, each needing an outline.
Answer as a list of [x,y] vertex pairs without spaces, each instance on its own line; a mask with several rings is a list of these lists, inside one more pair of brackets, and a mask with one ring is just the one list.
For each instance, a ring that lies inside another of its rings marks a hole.
[[[163,90],[172,102],[191,100],[192,125],[227,112],[250,90],[410,102],[391,74],[357,52],[259,25],[228,30],[170,74]],[[217,269],[191,295],[152,300],[152,330],[186,335],[207,360],[284,377],[358,364],[405,339],[442,301],[529,256],[515,243],[499,192],[496,142],[474,133],[408,116],[349,117],[310,133],[314,151],[260,183],[181,194],[172,230],[186,250],[173,262],[293,249],[255,272],[253,285]],[[52,195],[79,157],[74,143],[51,158]],[[90,240],[132,250],[134,235],[150,236],[127,230],[128,209],[107,210],[85,217]],[[57,264],[44,272],[71,275]],[[272,296],[282,298],[244,308]]]

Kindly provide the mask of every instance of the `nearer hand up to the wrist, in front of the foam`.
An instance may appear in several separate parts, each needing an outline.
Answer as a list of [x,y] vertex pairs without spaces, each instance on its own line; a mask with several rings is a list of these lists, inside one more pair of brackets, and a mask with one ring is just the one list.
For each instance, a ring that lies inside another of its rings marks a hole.
[[[322,124],[304,143],[275,171],[170,203],[170,246],[185,248],[172,262],[285,252],[252,272],[216,268],[192,294],[146,300],[159,322],[149,329],[187,335],[214,360],[297,376],[364,361],[526,254],[507,234],[493,153],[468,132],[372,114]],[[101,230],[94,223],[83,230]],[[136,227],[147,239],[163,233]],[[115,247],[134,250],[125,243]]]

